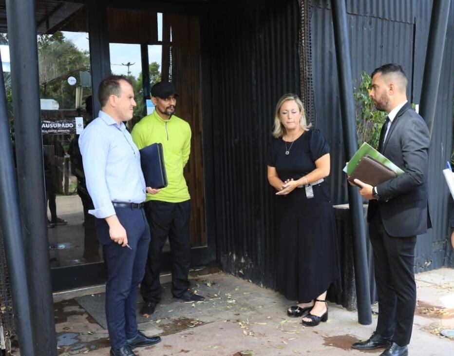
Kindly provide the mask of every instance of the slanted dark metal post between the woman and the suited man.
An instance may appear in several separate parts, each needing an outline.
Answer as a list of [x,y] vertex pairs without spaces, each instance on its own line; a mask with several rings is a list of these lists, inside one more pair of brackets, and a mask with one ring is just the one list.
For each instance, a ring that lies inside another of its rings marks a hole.
[[[345,157],[354,155],[358,149],[356,138],[355,104],[353,102],[352,65],[350,60],[350,44],[348,41],[347,10],[345,0],[331,1],[334,45],[338,67],[340,112],[345,147]],[[358,300],[358,321],[360,324],[372,323],[369,293],[369,275],[366,253],[366,235],[362,199],[358,189],[348,184],[348,201],[353,223],[353,256],[355,264],[356,294]]]

